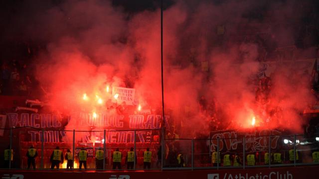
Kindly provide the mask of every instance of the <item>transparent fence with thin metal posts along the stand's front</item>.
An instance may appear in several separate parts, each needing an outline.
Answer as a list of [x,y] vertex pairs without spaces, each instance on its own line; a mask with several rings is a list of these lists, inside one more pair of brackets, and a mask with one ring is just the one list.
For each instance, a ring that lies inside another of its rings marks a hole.
[[[74,169],[71,170],[79,170],[78,153],[81,149],[88,152],[87,170],[113,170],[112,154],[117,148],[122,152],[121,170],[127,170],[126,156],[131,148],[137,156],[131,170],[144,170],[143,157],[147,148],[152,152],[150,170],[246,169],[319,164],[315,155],[319,151],[318,137],[296,134],[160,141],[160,135],[160,130],[150,129],[84,131],[0,128],[0,160],[4,161],[5,149],[12,149],[7,150],[8,156],[13,152],[12,161],[8,166],[1,162],[1,169],[27,169],[26,153],[30,146],[38,154],[35,170],[50,170],[50,156],[56,146],[59,146],[63,156],[68,149],[72,152]],[[96,169],[95,152],[99,148],[104,151],[102,169]],[[215,161],[220,161],[219,163],[212,163],[212,154],[215,151],[219,151],[220,155],[215,155]],[[269,156],[280,154],[280,162],[275,162],[273,157],[266,159],[266,153]],[[230,163],[225,165],[225,155],[231,158],[238,156],[240,164],[234,166],[234,160],[230,158]],[[248,155],[254,156],[253,165],[251,161],[247,161]],[[66,160],[60,164],[60,170],[70,170],[66,169]]]

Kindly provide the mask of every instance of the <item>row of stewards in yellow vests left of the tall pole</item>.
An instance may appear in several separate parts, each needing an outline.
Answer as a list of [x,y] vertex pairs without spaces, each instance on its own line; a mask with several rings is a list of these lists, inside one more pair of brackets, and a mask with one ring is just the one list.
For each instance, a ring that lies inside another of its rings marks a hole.
[[[13,149],[10,150],[8,147],[4,150],[4,168],[10,168],[10,164],[12,166],[13,161],[13,155],[14,151]],[[11,156],[11,158],[9,157]],[[31,165],[33,169],[35,169],[35,159],[38,156],[36,149],[33,146],[30,146],[30,148],[26,152],[27,156],[27,169],[30,169]],[[112,154],[112,161],[113,161],[113,169],[122,169],[122,152],[119,148],[117,148],[113,154]],[[51,156],[50,156],[50,162],[51,162],[51,169],[59,169],[60,164],[63,164],[64,160],[67,160],[67,166],[66,169],[73,169],[73,163],[74,163],[74,156],[72,152],[68,149],[65,155],[63,155],[63,152],[60,150],[58,146],[53,150]],[[78,153],[78,160],[79,160],[79,169],[82,169],[82,166],[84,169],[87,169],[86,161],[88,159],[88,152],[85,150],[85,148],[81,148]],[[95,151],[95,164],[96,169],[104,169],[105,165],[104,162],[106,161],[106,157],[104,155],[104,150],[99,147],[98,150]],[[150,151],[150,148],[147,148],[146,151],[144,151],[143,156],[143,162],[144,162],[144,169],[151,169],[151,162],[152,162],[152,152]],[[130,151],[127,152],[125,164],[127,165],[127,169],[134,169],[135,164],[137,163],[137,155],[134,151],[134,148],[132,147]]]

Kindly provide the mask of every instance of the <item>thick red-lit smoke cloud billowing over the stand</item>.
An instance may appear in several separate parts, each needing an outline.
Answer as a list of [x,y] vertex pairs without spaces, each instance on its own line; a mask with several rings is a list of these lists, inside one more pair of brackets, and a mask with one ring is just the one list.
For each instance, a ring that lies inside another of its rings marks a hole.
[[[269,9],[262,14],[265,17],[256,16],[263,8]],[[228,128],[250,127],[252,116],[264,120],[265,111],[256,103],[256,84],[251,82],[259,71],[262,44],[232,38],[246,25],[271,36],[264,44],[291,45],[295,34],[290,22],[299,21],[302,14],[295,13],[296,8],[295,1],[256,0],[180,0],[165,8],[164,98],[176,127],[202,133],[210,130],[211,119],[199,111],[201,95],[208,102],[215,101],[222,114],[218,117]],[[18,21],[24,36],[46,44],[36,58],[36,74],[47,87],[54,108],[70,112],[70,108],[87,107],[79,102],[83,93],[103,97],[107,85],[135,88],[143,105],[161,106],[159,8],[127,16],[110,1],[39,1],[16,18],[26,14],[28,18]],[[217,35],[219,25],[225,26],[227,36]],[[209,62],[208,73],[200,70],[205,61]],[[267,74],[272,78],[268,102],[283,108],[285,121],[274,120],[267,127],[300,131],[303,120],[298,111],[312,100],[310,82],[302,73],[281,67]],[[80,126],[73,121],[68,128]]]

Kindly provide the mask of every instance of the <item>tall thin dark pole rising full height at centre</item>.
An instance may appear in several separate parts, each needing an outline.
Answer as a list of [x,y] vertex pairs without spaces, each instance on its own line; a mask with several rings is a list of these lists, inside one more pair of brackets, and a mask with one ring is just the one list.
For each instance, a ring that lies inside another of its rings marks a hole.
[[160,72],[161,72],[161,105],[163,122],[161,126],[161,170],[163,170],[164,137],[165,137],[165,112],[164,112],[164,79],[163,79],[163,0],[160,0]]

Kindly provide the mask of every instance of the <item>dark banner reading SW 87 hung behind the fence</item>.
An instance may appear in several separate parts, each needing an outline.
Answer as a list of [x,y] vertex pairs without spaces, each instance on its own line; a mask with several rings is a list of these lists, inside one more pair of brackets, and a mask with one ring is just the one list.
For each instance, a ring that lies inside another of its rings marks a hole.
[[245,151],[267,151],[269,149],[269,135],[271,136],[271,148],[277,149],[282,133],[277,130],[223,130],[210,132],[210,152],[217,150],[217,138],[219,138],[219,150],[243,151],[243,138],[245,137]]

